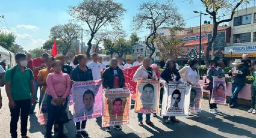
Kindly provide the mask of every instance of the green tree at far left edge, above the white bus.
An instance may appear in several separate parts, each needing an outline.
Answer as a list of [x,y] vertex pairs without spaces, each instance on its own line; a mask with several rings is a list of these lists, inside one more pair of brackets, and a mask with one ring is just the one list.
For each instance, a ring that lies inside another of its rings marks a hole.
[[0,33],[0,46],[7,50],[10,50],[14,46],[16,37],[13,34],[2,34]]

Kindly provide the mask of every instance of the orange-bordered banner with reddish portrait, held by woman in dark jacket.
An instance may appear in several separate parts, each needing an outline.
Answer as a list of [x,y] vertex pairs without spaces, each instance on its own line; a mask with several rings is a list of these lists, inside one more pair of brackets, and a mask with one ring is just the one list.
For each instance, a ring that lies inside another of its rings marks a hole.
[[129,89],[104,89],[104,116],[102,127],[129,124],[131,94]]

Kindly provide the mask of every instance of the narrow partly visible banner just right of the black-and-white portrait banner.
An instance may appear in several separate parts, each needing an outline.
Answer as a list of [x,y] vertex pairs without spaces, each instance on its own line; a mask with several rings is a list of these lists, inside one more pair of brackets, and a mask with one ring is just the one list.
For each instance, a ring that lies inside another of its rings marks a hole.
[[189,109],[196,112],[201,112],[202,104],[202,89],[197,86],[192,86],[190,90],[190,104]]

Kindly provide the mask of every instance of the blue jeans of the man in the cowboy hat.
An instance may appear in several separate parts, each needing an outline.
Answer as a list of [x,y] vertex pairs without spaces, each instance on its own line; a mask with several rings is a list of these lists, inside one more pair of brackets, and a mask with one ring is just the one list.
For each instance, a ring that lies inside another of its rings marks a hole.
[[232,83],[231,91],[232,95],[229,98],[229,105],[233,104],[233,106],[237,106],[237,96],[244,85],[239,85],[236,83]]

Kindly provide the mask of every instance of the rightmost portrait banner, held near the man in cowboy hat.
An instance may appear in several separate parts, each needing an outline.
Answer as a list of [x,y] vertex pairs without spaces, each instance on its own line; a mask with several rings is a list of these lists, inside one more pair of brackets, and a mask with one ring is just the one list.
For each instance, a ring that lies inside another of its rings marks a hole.
[[213,90],[211,92],[210,103],[225,104],[226,103],[226,80],[225,77],[213,77]]

